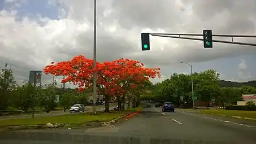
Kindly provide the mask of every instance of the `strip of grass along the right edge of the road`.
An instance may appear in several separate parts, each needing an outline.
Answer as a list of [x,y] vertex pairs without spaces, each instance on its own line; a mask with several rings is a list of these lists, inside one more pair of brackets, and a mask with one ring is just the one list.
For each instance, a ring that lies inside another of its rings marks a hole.
[[220,116],[240,116],[256,119],[256,111],[236,111],[236,110],[197,110],[205,114],[220,115]]

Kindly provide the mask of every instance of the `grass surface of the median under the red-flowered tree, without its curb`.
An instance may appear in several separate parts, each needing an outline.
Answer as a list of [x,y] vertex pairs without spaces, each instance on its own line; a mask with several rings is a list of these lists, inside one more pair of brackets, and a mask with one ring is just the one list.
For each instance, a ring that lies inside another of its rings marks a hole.
[[0,120],[0,127],[3,126],[14,126],[14,125],[38,125],[38,124],[84,124],[89,122],[104,122],[116,119],[120,116],[127,115],[131,112],[137,111],[139,108],[125,111],[110,111],[110,113],[98,112],[97,115],[90,115],[92,113],[81,113],[81,114],[69,114],[60,116],[45,116],[45,117],[34,117],[23,118],[23,119],[8,119]]

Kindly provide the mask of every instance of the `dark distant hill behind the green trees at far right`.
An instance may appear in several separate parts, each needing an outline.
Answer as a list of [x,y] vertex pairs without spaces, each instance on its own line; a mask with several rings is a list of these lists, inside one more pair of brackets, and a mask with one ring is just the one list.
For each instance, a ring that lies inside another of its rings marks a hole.
[[248,82],[235,82],[235,81],[219,81],[220,87],[242,87],[242,86],[254,86],[256,87],[256,81]]

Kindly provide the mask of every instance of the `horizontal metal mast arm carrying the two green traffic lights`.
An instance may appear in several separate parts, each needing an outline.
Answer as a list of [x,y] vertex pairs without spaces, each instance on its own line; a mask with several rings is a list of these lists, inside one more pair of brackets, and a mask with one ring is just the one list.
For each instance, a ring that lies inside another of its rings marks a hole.
[[[181,33],[150,33],[150,34],[151,34],[151,36],[156,36],[156,37],[170,37],[170,38],[179,38],[179,39],[185,39],[185,40],[203,41],[202,38],[181,37],[181,36],[203,36],[203,34],[181,34]],[[256,46],[256,43],[234,42],[233,41],[233,37],[256,38],[256,36],[228,35],[228,34],[212,34],[211,36],[212,37],[231,37],[232,38],[232,41],[212,40],[212,42],[229,43],[229,44],[235,44],[235,45]]]

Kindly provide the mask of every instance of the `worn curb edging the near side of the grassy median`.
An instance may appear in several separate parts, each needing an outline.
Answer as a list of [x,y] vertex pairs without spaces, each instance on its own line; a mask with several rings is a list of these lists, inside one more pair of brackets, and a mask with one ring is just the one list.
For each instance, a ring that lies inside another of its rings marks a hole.
[[[85,123],[81,126],[110,126],[115,124],[116,122],[118,122],[119,120],[123,119],[124,117],[130,118],[132,116],[134,116],[134,114],[138,114],[138,112],[140,112],[141,110],[135,111],[135,112],[131,112],[127,115],[118,117],[114,120],[111,121],[106,121],[106,122],[92,122],[92,123]],[[76,124],[75,124],[76,125]],[[51,124],[51,123],[47,123],[47,124],[38,124],[38,125],[16,125],[16,126],[5,126],[3,127],[4,131],[8,131],[8,130],[22,130],[22,129],[47,129],[47,128],[61,128],[64,126],[72,126],[72,124]]]

